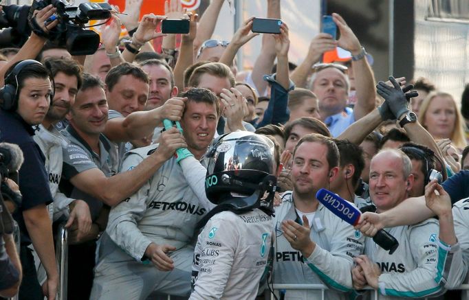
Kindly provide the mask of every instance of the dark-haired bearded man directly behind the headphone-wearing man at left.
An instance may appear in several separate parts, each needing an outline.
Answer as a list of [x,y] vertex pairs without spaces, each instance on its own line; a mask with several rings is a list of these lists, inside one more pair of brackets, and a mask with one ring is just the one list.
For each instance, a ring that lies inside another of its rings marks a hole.
[[45,170],[49,174],[49,188],[54,197],[54,203],[49,205],[50,216],[52,220],[57,220],[64,213],[67,216],[68,209],[70,209],[66,226],[70,227],[76,220],[76,224],[69,231],[69,242],[74,242],[75,238],[80,238],[80,235],[89,230],[91,217],[85,201],[68,198],[58,191],[58,183],[62,175],[62,148],[67,145],[67,141],[55,125],[65,119],[65,115],[75,102],[76,93],[81,85],[81,68],[74,60],[68,58],[50,58],[46,61],[54,76],[52,80],[54,97],[33,139],[43,151]]

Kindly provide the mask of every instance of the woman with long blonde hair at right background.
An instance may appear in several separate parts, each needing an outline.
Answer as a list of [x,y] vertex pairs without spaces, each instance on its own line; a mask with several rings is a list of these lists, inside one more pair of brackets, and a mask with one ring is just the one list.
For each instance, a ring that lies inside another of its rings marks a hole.
[[432,92],[422,102],[419,122],[437,139],[450,139],[459,149],[466,146],[463,117],[452,95]]

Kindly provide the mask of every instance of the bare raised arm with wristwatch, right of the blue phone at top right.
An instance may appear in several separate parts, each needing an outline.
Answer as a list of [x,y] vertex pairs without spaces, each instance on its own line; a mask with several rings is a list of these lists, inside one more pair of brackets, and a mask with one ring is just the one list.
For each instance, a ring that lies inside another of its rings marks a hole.
[[355,120],[358,120],[375,108],[375,78],[367,59],[364,57],[364,48],[360,45],[360,41],[351,28],[339,14],[332,14],[332,18],[340,30],[338,46],[349,50],[353,56],[352,68],[357,91],[357,102],[353,106],[353,115]]

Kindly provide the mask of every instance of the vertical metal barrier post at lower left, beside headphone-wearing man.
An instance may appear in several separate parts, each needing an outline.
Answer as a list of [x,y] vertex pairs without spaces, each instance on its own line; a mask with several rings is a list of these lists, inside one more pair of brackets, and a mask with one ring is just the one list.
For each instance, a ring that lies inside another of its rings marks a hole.
[[68,229],[65,222],[58,225],[56,241],[56,258],[58,264],[57,300],[67,300],[67,274],[68,274]]

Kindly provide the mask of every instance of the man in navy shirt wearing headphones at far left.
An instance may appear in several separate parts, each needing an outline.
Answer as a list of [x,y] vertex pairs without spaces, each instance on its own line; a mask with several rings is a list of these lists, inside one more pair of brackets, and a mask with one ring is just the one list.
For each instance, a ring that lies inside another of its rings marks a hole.
[[[23,203],[13,215],[21,231],[20,258],[23,282],[19,299],[55,299],[58,273],[52,239],[52,224],[47,211],[52,203],[44,155],[32,139],[34,129],[43,122],[52,93],[49,72],[36,60],[23,60],[7,71],[6,85],[0,89],[0,141],[15,143],[23,150],[19,170],[19,190]],[[44,265],[47,281],[41,286],[29,244]]]

